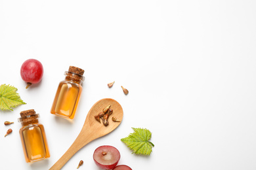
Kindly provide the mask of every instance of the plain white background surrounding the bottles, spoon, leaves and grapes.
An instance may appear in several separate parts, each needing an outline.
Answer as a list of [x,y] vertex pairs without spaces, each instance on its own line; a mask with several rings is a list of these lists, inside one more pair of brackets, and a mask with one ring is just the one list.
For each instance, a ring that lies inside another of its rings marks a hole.
[[[99,170],[93,152],[104,144],[119,149],[119,165],[135,170],[256,169],[255,9],[254,0],[1,0],[0,84],[18,88],[27,104],[0,111],[0,169],[49,169],[105,97],[121,104],[123,122],[63,169],[83,160],[80,169]],[[20,66],[29,58],[41,61],[45,72],[26,90]],[[73,122],[50,114],[70,65],[85,69]],[[27,109],[41,114],[48,160],[24,160],[17,119]],[[7,127],[5,120],[15,123]],[[131,127],[152,131],[150,156],[131,154],[120,141]]]

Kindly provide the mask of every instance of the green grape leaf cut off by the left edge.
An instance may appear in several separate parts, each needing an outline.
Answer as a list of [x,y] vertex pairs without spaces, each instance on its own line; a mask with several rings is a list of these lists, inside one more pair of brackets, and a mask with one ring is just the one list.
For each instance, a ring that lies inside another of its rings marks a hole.
[[14,86],[2,84],[0,86],[0,109],[1,110],[12,110],[11,107],[18,105],[24,105],[24,101],[20,99],[20,95],[16,93],[18,89]]

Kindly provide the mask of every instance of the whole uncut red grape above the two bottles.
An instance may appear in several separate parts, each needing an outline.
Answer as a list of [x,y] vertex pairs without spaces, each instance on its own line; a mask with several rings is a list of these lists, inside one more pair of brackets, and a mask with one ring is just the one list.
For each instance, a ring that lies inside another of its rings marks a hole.
[[31,84],[41,81],[43,77],[43,65],[37,59],[28,59],[22,64],[20,75],[22,80],[27,82],[28,86],[26,88],[28,88]]

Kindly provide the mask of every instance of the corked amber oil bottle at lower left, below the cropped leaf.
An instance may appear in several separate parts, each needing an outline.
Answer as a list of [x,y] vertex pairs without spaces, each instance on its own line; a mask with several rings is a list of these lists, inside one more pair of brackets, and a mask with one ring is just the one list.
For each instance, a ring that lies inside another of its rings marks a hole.
[[26,162],[44,160],[50,157],[50,152],[45,136],[45,128],[38,123],[39,114],[35,110],[24,110],[20,112],[21,118],[18,122],[20,128],[20,139]]

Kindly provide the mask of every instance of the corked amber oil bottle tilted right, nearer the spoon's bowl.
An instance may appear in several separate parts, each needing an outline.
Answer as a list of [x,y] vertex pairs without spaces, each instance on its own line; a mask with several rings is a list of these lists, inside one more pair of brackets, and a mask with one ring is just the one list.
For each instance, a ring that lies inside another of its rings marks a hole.
[[64,118],[74,118],[83,89],[81,84],[85,80],[83,73],[83,69],[74,66],[70,66],[68,71],[65,71],[66,78],[58,85],[51,114]]

